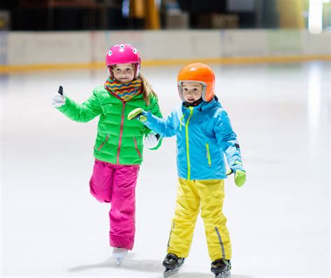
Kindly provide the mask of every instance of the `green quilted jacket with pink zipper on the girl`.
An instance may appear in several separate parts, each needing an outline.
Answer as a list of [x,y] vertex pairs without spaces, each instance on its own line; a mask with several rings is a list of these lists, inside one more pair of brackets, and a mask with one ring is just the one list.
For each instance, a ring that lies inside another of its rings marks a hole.
[[[116,165],[140,165],[143,135],[149,134],[152,130],[139,120],[128,120],[127,116],[133,109],[142,108],[162,118],[158,99],[151,95],[149,102],[147,106],[142,95],[122,102],[122,99],[100,85],[93,90],[93,95],[86,102],[77,104],[66,96],[66,104],[58,109],[71,120],[81,123],[100,116],[94,158]],[[154,149],[159,148],[161,141],[162,139]]]

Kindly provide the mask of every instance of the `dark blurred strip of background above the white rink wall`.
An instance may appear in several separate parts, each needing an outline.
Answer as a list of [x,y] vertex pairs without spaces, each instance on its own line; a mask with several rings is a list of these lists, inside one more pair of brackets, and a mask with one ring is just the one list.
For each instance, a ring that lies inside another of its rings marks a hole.
[[0,9],[2,30],[331,26],[329,0],[3,0]]

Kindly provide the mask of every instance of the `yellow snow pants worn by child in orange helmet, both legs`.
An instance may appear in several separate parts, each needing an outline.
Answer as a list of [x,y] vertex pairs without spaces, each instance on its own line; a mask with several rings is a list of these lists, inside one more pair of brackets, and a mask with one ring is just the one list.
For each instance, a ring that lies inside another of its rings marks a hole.
[[212,261],[219,258],[230,260],[230,236],[226,228],[226,216],[222,212],[224,196],[223,179],[189,181],[179,178],[167,252],[175,253],[179,258],[189,256],[201,205],[209,258]]

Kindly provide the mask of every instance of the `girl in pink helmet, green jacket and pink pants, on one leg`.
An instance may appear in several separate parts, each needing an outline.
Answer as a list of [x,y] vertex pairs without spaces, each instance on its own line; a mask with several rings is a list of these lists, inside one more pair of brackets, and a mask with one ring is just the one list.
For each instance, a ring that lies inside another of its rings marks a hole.
[[[94,146],[94,169],[89,181],[91,195],[111,202],[110,246],[117,263],[133,249],[135,237],[135,185],[142,147],[157,149],[158,134],[139,121],[127,120],[128,112],[141,108],[161,117],[158,98],[146,78],[139,73],[140,54],[134,46],[117,44],[106,55],[108,78],[96,87],[83,104],[61,93],[53,106],[68,118],[86,123],[96,116],[98,133]],[[145,139],[143,140],[143,137]]]

